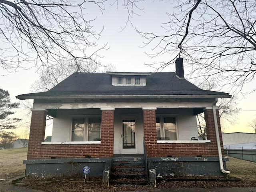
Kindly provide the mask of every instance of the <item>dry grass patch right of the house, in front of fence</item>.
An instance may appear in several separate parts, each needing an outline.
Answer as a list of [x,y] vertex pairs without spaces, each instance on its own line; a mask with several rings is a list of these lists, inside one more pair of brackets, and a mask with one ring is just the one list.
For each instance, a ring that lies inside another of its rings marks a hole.
[[230,171],[229,177],[236,177],[248,181],[256,181],[256,163],[228,157],[226,162],[227,170]]

